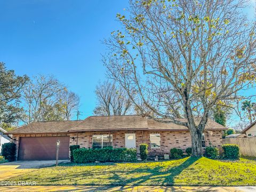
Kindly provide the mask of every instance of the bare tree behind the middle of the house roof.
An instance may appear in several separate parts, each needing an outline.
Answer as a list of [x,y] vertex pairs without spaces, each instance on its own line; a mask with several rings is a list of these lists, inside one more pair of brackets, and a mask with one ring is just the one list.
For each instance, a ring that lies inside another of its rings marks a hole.
[[97,85],[95,94],[98,105],[94,115],[126,115],[131,110],[131,100],[126,91],[115,83],[103,82]]

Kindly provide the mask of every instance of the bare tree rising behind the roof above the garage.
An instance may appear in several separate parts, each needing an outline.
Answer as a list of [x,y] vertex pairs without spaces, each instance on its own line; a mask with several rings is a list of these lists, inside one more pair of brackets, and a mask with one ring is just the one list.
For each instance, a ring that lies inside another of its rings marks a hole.
[[24,123],[37,121],[63,121],[71,117],[79,105],[79,97],[53,76],[32,79],[23,91],[26,113]]

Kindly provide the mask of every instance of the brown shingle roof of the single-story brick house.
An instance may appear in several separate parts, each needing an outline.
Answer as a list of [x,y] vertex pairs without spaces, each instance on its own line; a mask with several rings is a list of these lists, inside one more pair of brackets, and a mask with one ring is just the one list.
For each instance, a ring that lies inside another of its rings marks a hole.
[[[185,121],[185,119],[182,119]],[[225,130],[226,127],[209,119],[206,130]],[[82,131],[114,130],[188,130],[174,123],[159,123],[142,115],[90,116],[82,121],[34,122],[15,129],[9,134],[19,133],[67,133]]]

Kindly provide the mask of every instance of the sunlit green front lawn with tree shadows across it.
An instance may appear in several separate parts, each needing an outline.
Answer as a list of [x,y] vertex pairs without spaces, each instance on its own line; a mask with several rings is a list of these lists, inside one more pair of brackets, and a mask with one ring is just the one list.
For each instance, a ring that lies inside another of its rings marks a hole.
[[150,163],[64,164],[12,178],[37,185],[255,186],[256,162],[205,157]]

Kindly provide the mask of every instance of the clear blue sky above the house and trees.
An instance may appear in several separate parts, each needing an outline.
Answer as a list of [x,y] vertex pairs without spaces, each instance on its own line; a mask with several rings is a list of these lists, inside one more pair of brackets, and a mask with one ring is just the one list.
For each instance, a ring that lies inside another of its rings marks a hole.
[[[252,8],[245,10],[253,18]],[[0,61],[17,74],[50,74],[81,97],[81,119],[92,115],[94,89],[104,81],[101,43],[120,28],[128,0],[0,0]],[[254,90],[252,90],[254,92]]]

